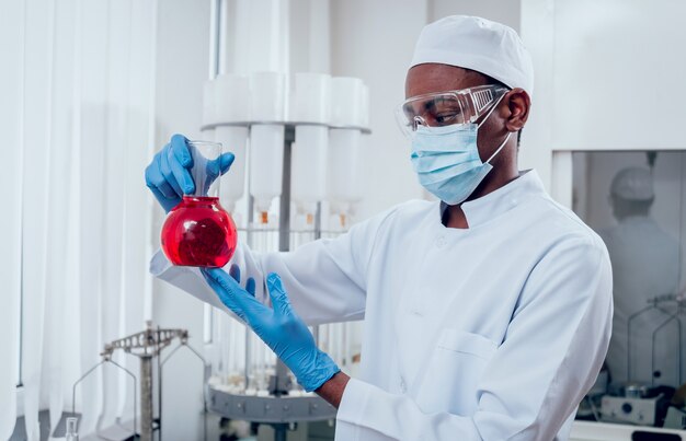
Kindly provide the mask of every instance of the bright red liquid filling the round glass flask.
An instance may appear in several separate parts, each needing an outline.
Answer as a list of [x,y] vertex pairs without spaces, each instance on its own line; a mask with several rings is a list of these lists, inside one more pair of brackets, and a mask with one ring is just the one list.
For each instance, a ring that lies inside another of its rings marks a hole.
[[236,241],[233,220],[216,197],[184,196],[162,227],[162,249],[174,265],[220,268]]

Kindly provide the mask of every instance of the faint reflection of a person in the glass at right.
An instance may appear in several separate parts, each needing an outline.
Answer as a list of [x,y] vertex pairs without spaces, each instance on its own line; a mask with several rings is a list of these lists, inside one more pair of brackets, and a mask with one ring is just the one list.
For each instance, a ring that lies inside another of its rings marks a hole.
[[[607,364],[614,382],[654,382],[678,387],[682,383],[676,369],[676,323],[655,335],[653,348],[652,334],[668,314],[656,309],[644,311],[649,300],[675,295],[679,278],[678,242],[650,217],[654,199],[653,177],[648,169],[622,169],[613,178],[610,204],[617,225],[601,232],[615,280],[616,311]],[[629,317],[641,311],[631,321],[629,338]]]

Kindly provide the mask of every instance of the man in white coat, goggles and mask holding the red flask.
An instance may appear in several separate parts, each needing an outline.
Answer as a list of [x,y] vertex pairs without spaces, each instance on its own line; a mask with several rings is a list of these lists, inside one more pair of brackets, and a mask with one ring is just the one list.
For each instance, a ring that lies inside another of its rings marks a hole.
[[[443,202],[400,205],[293,253],[241,245],[232,263],[250,277],[245,290],[238,271],[203,270],[210,290],[161,254],[152,272],[252,326],[339,408],[338,440],[567,439],[607,350],[610,268],[602,241],[536,172],[517,170],[531,70],[506,26],[469,16],[427,25],[400,119],[420,183]],[[187,179],[156,164],[186,155],[176,136],[146,172],[164,206],[179,194],[161,188]],[[273,307],[255,300],[264,285]],[[305,323],[363,317],[361,375],[350,379]]]

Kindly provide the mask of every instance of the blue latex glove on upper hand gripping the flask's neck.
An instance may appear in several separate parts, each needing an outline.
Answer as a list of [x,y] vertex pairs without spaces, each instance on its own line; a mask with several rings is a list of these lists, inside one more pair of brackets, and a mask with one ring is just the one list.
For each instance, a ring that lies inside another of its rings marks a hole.
[[[188,172],[193,166],[193,155],[183,135],[174,135],[146,169],[146,185],[165,212],[181,202],[183,195],[195,192],[195,183]],[[228,172],[233,159],[232,153],[224,153],[208,161],[206,166],[210,178],[205,186],[209,187],[219,175]]]

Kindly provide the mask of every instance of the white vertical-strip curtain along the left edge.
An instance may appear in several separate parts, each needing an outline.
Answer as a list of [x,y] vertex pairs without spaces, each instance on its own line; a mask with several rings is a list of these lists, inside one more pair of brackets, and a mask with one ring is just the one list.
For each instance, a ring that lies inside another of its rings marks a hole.
[[[39,409],[54,429],[104,343],[150,316],[156,11],[157,0],[2,1],[0,438],[18,410],[28,440]],[[133,416],[133,384],[111,367],[79,398],[81,433]]]

